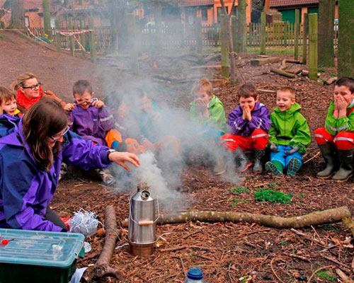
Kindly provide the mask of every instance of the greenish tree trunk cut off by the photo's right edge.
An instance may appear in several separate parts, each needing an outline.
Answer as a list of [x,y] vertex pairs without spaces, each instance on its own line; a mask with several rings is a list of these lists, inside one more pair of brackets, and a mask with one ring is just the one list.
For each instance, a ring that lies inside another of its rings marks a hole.
[[[338,26],[338,78],[354,76],[354,5],[353,0],[341,0],[339,3]],[[350,43],[351,42],[351,43]]]

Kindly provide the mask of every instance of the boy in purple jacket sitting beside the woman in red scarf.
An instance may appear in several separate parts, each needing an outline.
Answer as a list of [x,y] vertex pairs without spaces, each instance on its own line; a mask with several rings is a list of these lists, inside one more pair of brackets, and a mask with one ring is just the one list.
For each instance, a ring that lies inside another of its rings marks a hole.
[[[125,151],[119,132],[113,130],[114,119],[110,109],[103,101],[93,98],[93,89],[89,81],[79,80],[74,83],[72,92],[74,103],[68,103],[64,110],[69,112],[70,129],[93,144],[108,146],[116,151]],[[115,180],[108,170],[99,170],[103,183],[113,185]]]

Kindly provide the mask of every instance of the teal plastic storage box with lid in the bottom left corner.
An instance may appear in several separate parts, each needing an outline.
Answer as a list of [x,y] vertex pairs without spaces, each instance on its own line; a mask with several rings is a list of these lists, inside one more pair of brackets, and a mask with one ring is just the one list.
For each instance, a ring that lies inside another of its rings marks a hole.
[[67,283],[76,269],[84,235],[0,229],[0,283]]

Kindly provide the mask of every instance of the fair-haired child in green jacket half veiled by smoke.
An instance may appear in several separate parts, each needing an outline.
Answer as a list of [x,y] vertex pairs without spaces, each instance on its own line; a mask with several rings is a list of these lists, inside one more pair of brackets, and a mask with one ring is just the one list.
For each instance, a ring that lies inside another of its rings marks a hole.
[[[224,105],[214,95],[212,83],[208,79],[200,79],[192,89],[194,100],[190,103],[190,117],[202,126],[199,133],[201,139],[207,139],[219,147],[219,138],[225,133],[227,126]],[[222,154],[217,154],[214,174],[225,172],[226,165]]]

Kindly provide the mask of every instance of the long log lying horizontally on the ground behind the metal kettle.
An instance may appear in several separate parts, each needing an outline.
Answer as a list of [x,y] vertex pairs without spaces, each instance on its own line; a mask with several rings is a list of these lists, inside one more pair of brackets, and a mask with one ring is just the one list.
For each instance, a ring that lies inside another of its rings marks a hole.
[[[280,217],[264,214],[252,214],[248,212],[181,212],[179,214],[161,214],[157,224],[178,224],[188,221],[200,222],[246,222],[256,223],[272,228],[304,228],[311,225],[327,224],[341,221],[349,217],[348,207],[327,209],[323,212],[312,212],[302,216]],[[128,221],[122,221],[122,226],[127,227]]]

